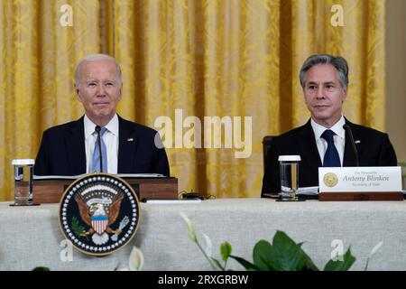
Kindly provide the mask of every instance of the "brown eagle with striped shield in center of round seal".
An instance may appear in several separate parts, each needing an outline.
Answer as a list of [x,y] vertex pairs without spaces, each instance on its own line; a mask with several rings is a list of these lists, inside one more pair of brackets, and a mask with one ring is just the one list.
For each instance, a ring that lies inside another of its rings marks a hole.
[[109,201],[110,204],[102,202],[90,202],[89,204],[79,194],[76,195],[75,200],[78,203],[80,218],[90,227],[87,231],[83,231],[80,236],[92,235],[92,240],[96,245],[103,245],[109,239],[107,233],[120,233],[110,226],[118,217],[123,199],[123,194],[119,194],[115,200]]

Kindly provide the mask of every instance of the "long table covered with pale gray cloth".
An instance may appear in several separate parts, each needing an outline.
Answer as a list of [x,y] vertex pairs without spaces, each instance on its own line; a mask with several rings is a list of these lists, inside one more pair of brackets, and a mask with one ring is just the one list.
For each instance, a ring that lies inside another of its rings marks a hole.
[[[143,270],[211,270],[208,261],[189,239],[180,211],[195,221],[213,243],[213,256],[221,259],[219,245],[228,241],[233,255],[252,261],[254,244],[272,241],[276,230],[286,232],[320,269],[337,246],[351,247],[356,257],[352,270],[363,270],[371,250],[370,270],[406,270],[406,202],[341,201],[277,202],[269,199],[218,199],[193,204],[141,204],[141,223],[131,242],[109,256],[86,256],[66,247],[58,223],[58,205],[10,207],[0,202],[0,270],[123,269],[133,246],[143,252]],[[61,257],[62,256],[62,257]],[[65,257],[64,257],[65,256]],[[230,261],[230,269],[242,266]]]

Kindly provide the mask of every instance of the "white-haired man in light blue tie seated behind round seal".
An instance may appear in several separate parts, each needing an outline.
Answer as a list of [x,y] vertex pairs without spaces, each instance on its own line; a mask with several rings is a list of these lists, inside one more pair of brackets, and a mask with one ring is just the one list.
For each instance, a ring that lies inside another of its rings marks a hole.
[[121,74],[118,63],[106,54],[89,55],[79,61],[75,91],[85,115],[43,133],[34,174],[107,172],[170,176],[165,150],[155,145],[156,139],[161,140],[157,132],[117,115],[123,89]]

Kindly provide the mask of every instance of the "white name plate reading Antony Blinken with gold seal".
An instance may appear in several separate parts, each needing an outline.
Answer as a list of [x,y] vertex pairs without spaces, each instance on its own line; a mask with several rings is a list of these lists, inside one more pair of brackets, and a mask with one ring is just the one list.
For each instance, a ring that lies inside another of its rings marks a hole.
[[401,167],[319,167],[318,185],[320,192],[401,191]]

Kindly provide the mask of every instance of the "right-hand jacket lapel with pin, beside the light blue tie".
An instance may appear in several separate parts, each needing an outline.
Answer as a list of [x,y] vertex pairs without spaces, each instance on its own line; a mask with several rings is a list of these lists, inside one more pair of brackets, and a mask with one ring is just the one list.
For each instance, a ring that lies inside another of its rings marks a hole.
[[137,139],[134,126],[118,116],[118,173],[134,172],[134,156]]

